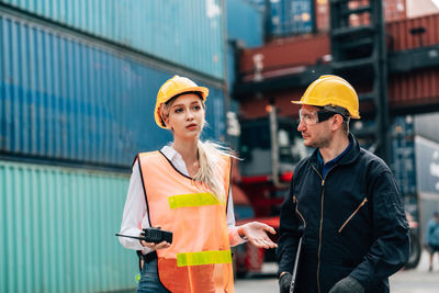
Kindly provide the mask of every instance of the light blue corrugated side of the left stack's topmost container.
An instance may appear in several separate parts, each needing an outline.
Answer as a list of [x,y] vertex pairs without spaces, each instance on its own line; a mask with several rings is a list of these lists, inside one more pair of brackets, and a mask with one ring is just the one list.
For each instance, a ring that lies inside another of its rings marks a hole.
[[218,0],[1,2],[212,77],[224,77],[224,13]]

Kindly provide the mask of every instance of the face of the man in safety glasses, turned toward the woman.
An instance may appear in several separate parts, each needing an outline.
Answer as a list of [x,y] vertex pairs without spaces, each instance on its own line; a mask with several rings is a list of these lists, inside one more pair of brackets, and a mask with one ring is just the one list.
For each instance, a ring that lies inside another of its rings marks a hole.
[[301,123],[297,131],[302,133],[303,144],[307,147],[322,148],[327,147],[333,137],[329,127],[331,119],[318,122],[318,108],[312,105],[302,105],[300,110]]

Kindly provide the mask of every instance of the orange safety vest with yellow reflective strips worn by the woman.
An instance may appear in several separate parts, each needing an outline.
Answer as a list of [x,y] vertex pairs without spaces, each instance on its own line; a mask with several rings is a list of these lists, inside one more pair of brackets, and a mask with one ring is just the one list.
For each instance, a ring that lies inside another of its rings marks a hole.
[[149,223],[173,233],[157,250],[160,282],[175,293],[234,292],[226,209],[230,158],[219,168],[224,202],[209,187],[179,172],[160,151],[138,155]]

